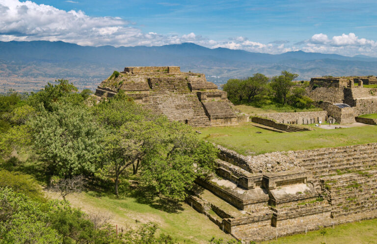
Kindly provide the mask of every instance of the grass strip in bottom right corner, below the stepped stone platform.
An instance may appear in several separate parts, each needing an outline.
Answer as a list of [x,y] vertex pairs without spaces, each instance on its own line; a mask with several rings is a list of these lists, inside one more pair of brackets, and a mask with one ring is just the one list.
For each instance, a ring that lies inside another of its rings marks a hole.
[[264,242],[264,244],[278,243],[302,243],[302,244],[340,244],[340,243],[377,243],[377,219],[364,220],[337,225],[334,228],[326,228],[324,237],[320,231],[311,231],[305,234],[278,238],[276,241]]

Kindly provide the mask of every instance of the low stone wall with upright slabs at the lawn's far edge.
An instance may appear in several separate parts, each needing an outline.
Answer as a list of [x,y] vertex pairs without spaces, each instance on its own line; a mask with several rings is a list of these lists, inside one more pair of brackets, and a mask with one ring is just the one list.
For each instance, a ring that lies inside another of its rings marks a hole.
[[327,111],[295,112],[295,113],[272,113],[259,114],[259,117],[269,118],[278,123],[310,124],[326,121]]

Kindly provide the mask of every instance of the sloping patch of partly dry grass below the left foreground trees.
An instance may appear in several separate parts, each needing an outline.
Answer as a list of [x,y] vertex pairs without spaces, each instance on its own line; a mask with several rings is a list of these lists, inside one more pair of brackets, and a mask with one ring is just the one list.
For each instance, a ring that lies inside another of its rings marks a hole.
[[[58,197],[57,194],[51,192],[47,192],[47,195],[51,198]],[[118,224],[118,227],[155,222],[162,232],[171,235],[179,243],[207,244],[213,236],[216,239],[232,239],[205,215],[198,213],[186,203],[183,203],[176,211],[162,211],[163,206],[143,203],[141,197],[116,198],[112,194],[98,195],[95,192],[82,192],[68,195],[67,199],[72,206],[81,208],[84,212],[110,215],[110,223]]]

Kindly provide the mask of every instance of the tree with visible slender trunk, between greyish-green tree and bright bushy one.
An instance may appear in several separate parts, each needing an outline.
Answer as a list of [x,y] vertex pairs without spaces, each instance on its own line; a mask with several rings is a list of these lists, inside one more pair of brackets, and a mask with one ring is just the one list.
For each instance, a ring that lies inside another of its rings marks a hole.
[[146,151],[157,143],[155,116],[118,93],[109,101],[94,107],[94,113],[106,127],[105,146],[102,154],[104,165],[97,176],[114,179],[114,192],[118,193],[119,178],[131,165],[137,173],[140,160]]

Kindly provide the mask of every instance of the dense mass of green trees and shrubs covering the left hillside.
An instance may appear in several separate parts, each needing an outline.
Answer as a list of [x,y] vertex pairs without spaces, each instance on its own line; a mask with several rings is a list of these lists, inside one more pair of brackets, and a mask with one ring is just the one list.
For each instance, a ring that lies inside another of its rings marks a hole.
[[[215,228],[204,234],[184,228],[197,220],[188,218],[192,210],[182,201],[197,177],[213,171],[215,147],[123,93],[95,101],[66,80],[30,95],[0,96],[0,241],[176,243],[192,235],[205,243],[224,236]],[[45,198],[41,185],[63,200]],[[110,215],[71,207],[69,196],[88,189],[87,196],[103,196],[97,202],[115,212],[131,205],[166,222],[135,218],[132,225],[127,219],[116,233]],[[183,233],[172,227],[174,219],[183,221]]]

